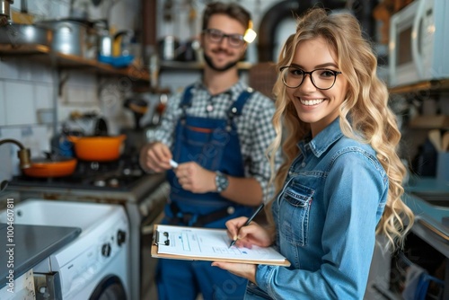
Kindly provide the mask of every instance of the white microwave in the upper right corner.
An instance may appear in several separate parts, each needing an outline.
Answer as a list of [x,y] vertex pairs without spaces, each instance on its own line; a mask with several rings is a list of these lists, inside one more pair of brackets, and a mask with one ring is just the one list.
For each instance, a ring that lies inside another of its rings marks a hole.
[[449,77],[449,1],[415,0],[390,19],[389,85]]

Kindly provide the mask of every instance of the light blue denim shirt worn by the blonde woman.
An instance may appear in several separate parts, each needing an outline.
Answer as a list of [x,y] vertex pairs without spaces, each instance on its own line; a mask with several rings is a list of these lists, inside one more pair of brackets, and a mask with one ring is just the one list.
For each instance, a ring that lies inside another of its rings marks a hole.
[[374,149],[334,120],[301,149],[272,213],[291,266],[259,265],[245,299],[362,299],[388,177]]

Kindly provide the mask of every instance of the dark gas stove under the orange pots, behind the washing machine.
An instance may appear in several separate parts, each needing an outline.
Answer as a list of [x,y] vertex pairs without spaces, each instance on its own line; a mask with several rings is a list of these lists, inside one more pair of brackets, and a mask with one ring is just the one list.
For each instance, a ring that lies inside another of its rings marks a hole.
[[[163,214],[169,192],[165,174],[146,174],[136,159],[121,157],[108,163],[77,163],[75,172],[60,178],[31,178],[15,176],[6,190],[18,195],[20,200],[50,199],[58,201],[95,202],[119,204],[125,207],[129,220],[129,273],[131,297],[141,299],[142,288],[153,285],[154,278],[144,278],[147,268],[142,261],[151,234],[148,228]],[[145,243],[143,241],[145,240]]]

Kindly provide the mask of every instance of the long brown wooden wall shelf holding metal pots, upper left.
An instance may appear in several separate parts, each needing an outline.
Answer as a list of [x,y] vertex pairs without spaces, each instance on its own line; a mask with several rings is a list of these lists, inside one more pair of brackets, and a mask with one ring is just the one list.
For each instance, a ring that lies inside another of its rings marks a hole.
[[54,63],[58,67],[66,69],[80,69],[95,72],[99,75],[124,75],[136,81],[149,82],[150,77],[145,69],[138,69],[136,66],[117,68],[101,63],[94,59],[77,57],[58,52],[53,52],[48,46],[42,45],[11,45],[0,44],[0,57],[32,56],[32,59],[46,63]]

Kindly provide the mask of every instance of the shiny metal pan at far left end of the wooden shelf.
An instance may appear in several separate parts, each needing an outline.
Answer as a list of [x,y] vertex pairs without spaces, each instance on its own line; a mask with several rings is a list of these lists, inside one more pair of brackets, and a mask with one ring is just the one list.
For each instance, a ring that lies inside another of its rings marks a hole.
[[0,44],[43,45],[51,47],[53,31],[36,24],[8,23],[0,27]]

